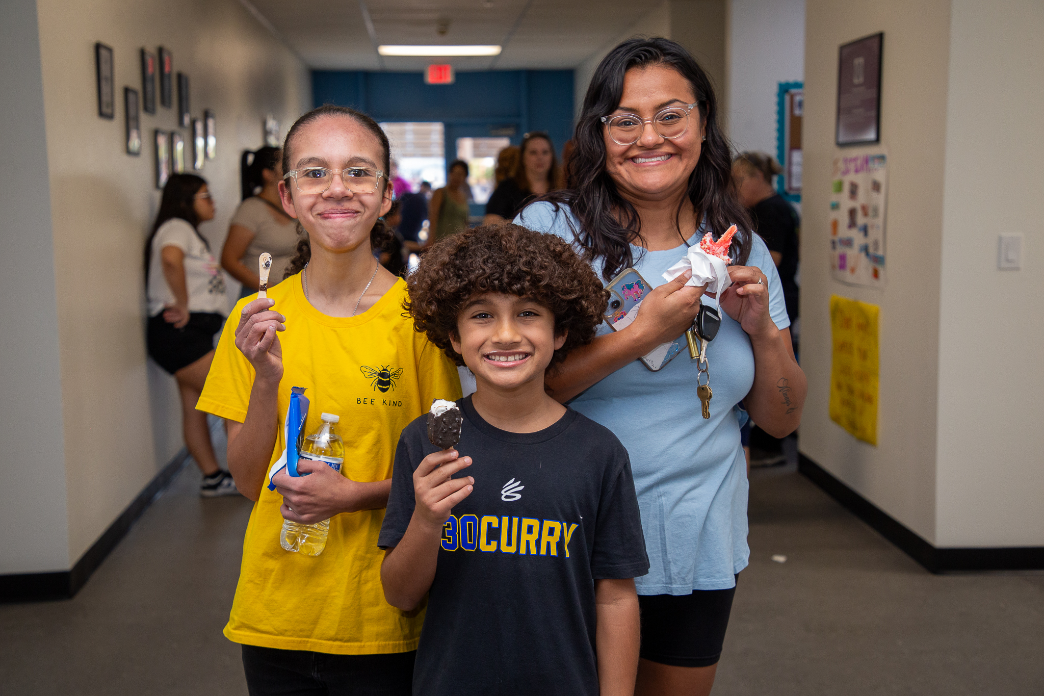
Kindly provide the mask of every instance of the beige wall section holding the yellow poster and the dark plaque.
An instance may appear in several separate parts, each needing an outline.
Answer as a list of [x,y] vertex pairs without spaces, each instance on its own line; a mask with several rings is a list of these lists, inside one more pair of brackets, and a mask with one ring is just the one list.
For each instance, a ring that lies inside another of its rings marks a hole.
[[[936,542],[940,247],[950,55],[948,0],[807,0],[802,191],[802,366],[808,401],[801,448],[930,543]],[[883,290],[830,278],[829,187],[840,44],[884,31],[881,144],[888,151]],[[828,414],[831,294],[879,305],[878,447]]]

